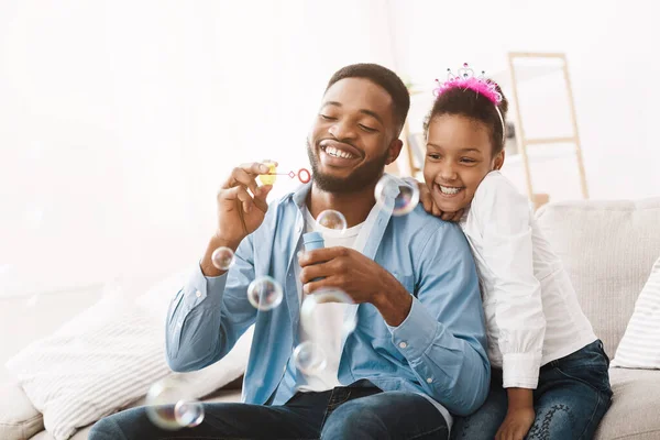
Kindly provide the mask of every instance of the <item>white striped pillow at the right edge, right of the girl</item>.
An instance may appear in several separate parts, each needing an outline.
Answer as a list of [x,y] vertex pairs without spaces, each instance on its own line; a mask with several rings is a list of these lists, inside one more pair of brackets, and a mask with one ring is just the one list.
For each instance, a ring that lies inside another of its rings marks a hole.
[[635,302],[612,366],[660,370],[660,258]]

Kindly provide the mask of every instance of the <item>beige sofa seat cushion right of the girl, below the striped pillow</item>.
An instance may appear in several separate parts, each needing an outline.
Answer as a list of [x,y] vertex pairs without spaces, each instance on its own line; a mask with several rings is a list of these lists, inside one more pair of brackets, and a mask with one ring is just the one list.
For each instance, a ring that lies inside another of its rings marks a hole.
[[594,440],[660,438],[660,372],[609,369],[614,397]]

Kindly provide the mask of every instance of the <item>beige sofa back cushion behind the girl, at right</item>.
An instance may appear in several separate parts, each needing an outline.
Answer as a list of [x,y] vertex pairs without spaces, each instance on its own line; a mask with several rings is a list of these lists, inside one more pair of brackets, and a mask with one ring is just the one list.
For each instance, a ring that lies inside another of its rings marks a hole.
[[556,202],[543,206],[537,219],[568,270],[584,314],[614,358],[660,255],[660,198]]

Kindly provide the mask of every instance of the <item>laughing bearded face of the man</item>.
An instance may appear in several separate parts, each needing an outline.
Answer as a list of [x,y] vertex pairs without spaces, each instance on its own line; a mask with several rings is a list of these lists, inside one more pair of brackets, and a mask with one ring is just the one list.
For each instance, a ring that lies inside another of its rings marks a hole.
[[351,193],[375,184],[396,160],[392,97],[364,78],[344,78],[326,95],[307,140],[315,184],[330,193]]

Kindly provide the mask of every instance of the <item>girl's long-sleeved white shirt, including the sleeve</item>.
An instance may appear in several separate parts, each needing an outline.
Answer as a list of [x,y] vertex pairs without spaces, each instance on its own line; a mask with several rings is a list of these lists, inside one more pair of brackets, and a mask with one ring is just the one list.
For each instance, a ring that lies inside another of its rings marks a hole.
[[460,221],[480,278],[488,358],[504,387],[536,388],[539,369],[596,340],[529,204],[490,173]]

